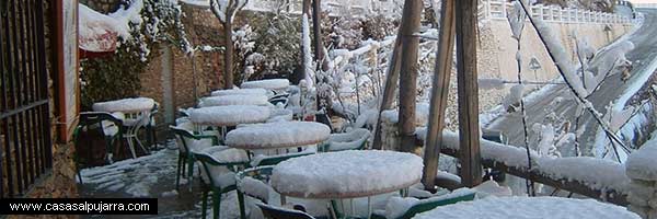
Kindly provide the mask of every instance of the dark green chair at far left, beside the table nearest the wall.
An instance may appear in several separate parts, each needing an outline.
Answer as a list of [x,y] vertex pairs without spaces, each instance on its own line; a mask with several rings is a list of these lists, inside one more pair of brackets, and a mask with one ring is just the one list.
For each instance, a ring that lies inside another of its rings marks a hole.
[[[110,126],[113,126],[112,128],[116,128],[115,134],[108,132]],[[104,112],[80,113],[80,122],[78,123],[78,126],[73,130],[73,142],[76,145],[79,145],[80,132],[85,128],[88,131],[96,130],[97,132],[103,135],[104,140],[105,140],[105,151],[106,151],[105,160],[108,162],[112,162],[112,153],[114,151],[113,150],[114,143],[116,143],[116,142],[122,143],[120,139],[123,139],[123,132],[124,132],[123,120],[114,117],[110,113],[104,113]],[[89,150],[87,158],[91,159],[91,157],[92,157],[92,150]],[[80,182],[82,182],[82,176],[80,175],[80,155],[78,153],[73,154],[73,160],[76,161],[76,166],[78,169],[77,170],[78,177],[79,177]]]

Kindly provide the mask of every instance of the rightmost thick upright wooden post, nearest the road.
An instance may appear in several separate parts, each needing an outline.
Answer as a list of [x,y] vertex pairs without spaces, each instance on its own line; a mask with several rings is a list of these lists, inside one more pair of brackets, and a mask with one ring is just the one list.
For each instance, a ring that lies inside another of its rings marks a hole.
[[456,3],[461,182],[468,187],[482,182],[476,81],[476,3],[477,0],[458,0]]

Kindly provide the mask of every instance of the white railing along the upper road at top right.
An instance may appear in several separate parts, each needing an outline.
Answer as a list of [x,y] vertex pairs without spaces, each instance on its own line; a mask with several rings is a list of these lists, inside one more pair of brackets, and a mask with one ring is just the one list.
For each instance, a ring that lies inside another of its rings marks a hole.
[[[506,0],[482,0],[479,5],[481,20],[506,20],[507,12],[512,10],[511,2]],[[600,24],[629,24],[634,22],[631,18],[615,14],[597,12],[573,8],[561,8],[557,5],[531,5],[530,15],[553,23],[600,23]]]

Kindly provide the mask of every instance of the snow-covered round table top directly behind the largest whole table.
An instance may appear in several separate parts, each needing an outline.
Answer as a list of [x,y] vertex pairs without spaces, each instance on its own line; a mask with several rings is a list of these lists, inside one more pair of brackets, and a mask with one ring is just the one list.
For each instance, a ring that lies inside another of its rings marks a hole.
[[325,141],[328,126],[314,122],[276,122],[254,124],[231,130],[226,145],[245,150],[292,148]]

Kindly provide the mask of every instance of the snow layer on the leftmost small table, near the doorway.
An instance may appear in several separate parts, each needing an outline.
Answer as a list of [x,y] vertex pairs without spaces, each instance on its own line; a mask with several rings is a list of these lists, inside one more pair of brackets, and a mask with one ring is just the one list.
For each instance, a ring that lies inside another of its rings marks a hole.
[[92,105],[95,112],[122,112],[122,113],[138,113],[150,111],[155,105],[155,101],[149,97],[122,99],[116,101],[107,101],[94,103]]

